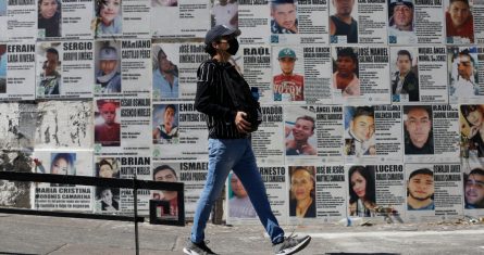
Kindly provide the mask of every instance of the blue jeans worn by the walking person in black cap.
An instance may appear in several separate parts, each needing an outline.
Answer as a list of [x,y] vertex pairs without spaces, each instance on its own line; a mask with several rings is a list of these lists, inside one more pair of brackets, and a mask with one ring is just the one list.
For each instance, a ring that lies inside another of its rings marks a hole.
[[204,240],[204,229],[215,200],[220,196],[231,169],[240,179],[250,202],[272,243],[284,240],[284,231],[269,204],[265,186],[256,164],[250,139],[209,139],[209,173],[198,200],[191,227],[191,242]]

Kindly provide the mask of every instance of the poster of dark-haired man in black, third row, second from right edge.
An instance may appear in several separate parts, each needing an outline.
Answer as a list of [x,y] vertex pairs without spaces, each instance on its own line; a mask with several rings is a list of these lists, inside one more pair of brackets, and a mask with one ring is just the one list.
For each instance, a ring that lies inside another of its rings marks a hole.
[[405,162],[459,162],[458,106],[404,105]]

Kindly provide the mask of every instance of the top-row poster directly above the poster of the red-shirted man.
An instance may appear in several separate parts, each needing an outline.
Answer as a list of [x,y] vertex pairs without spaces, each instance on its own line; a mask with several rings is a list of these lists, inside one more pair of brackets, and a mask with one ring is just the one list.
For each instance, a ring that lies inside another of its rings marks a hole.
[[[272,44],[328,43],[327,1],[268,1]],[[269,14],[269,13],[268,13]],[[269,16],[265,14],[265,16]]]

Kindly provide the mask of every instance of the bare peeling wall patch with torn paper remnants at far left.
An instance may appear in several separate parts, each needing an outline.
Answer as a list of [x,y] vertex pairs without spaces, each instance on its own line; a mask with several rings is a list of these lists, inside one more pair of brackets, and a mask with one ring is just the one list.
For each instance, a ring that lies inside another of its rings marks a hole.
[[[33,150],[92,148],[92,103],[0,103],[0,170],[32,171]],[[88,170],[89,176],[92,169]],[[0,180],[0,205],[30,207],[30,183]]]

